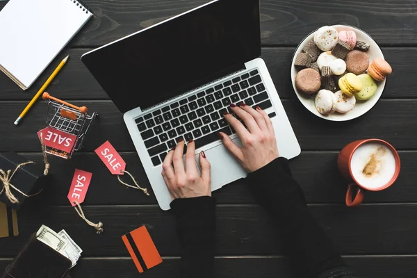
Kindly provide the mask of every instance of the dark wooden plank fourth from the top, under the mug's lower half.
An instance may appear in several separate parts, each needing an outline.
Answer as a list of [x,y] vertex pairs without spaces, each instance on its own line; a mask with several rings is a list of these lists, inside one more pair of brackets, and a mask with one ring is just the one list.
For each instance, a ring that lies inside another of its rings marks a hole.
[[[302,152],[291,161],[293,177],[300,183],[309,204],[343,204],[347,181],[338,174],[336,158],[338,152]],[[38,165],[42,164],[42,154],[22,154]],[[141,205],[157,204],[152,187],[145,175],[138,155],[133,152],[121,154],[129,171],[136,177],[140,186],[148,188],[151,196],[141,191],[126,188],[106,172],[107,168],[95,153],[75,154],[70,161],[50,157],[51,186],[37,197],[28,199],[24,206],[61,205],[67,206],[67,193],[70,188],[74,168],[92,172],[92,181],[85,199],[86,205]],[[417,199],[417,152],[400,152],[401,174],[391,188],[366,195],[364,203],[415,202]],[[131,182],[124,177],[124,181]],[[97,197],[99,196],[99,197]],[[213,193],[218,204],[255,204],[252,193],[245,181],[240,179]]]

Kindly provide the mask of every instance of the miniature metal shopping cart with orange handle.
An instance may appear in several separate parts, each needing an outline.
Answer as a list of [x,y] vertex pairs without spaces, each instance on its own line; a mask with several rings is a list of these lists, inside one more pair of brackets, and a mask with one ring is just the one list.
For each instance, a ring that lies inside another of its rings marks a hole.
[[83,147],[83,140],[88,133],[90,124],[98,116],[96,112],[91,115],[88,114],[88,109],[85,106],[75,106],[66,101],[51,97],[47,92],[44,92],[42,99],[47,101],[47,126],[53,129],[58,129],[65,133],[70,133],[75,136],[75,142],[70,152],[63,152],[60,149],[46,147],[47,154],[53,154],[62,158],[71,158],[75,151]]

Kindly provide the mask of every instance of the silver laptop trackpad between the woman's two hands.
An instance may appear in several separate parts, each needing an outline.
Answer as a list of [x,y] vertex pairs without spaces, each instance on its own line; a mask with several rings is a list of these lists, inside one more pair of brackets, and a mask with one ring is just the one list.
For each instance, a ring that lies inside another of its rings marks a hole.
[[[240,139],[233,140],[237,145],[241,145]],[[224,147],[218,145],[211,149],[204,150],[206,158],[211,163],[211,188],[218,189],[231,181],[247,176],[247,172],[236,161],[234,156]],[[195,155],[195,160],[199,166],[199,154]]]

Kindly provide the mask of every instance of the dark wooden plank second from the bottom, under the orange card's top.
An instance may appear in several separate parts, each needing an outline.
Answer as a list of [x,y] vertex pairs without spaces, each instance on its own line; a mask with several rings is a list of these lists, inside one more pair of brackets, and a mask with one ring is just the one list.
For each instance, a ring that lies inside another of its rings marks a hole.
[[[327,204],[310,209],[341,254],[414,254],[416,250],[417,222],[412,220],[417,218],[417,204],[368,204],[357,209]],[[161,255],[181,252],[174,217],[158,206],[83,206],[83,211],[92,222],[104,224],[103,234],[97,235],[69,205],[31,206],[17,215],[20,235],[1,246],[0,257],[17,254],[40,224],[65,229],[85,257],[128,256],[121,236],[141,225],[147,226]],[[218,255],[282,253],[273,222],[260,206],[218,206],[216,221]]]

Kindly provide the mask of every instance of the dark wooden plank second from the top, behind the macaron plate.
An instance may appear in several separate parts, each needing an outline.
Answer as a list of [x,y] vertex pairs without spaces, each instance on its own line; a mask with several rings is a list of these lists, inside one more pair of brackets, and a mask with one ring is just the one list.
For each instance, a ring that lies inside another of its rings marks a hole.
[[[109,99],[106,92],[101,89],[99,83],[97,83],[80,60],[81,55],[89,50],[91,49],[67,49],[63,51],[45,70],[42,76],[35,81],[33,86],[25,92],[22,92],[6,75],[0,74],[0,100],[30,100],[51,72],[55,70],[60,60],[67,54],[70,54],[70,60],[65,65],[65,69],[49,85],[47,91],[51,95],[54,94],[56,97],[65,100]],[[265,60],[268,66],[281,99],[297,99],[290,76],[291,59],[294,51],[295,47],[267,47],[262,49],[261,58]],[[417,48],[383,47],[382,51],[386,60],[393,67],[393,74],[389,76],[382,98],[416,98],[417,95],[414,88],[417,87],[417,79],[408,78],[408,74],[414,71],[414,65],[417,64]]]

